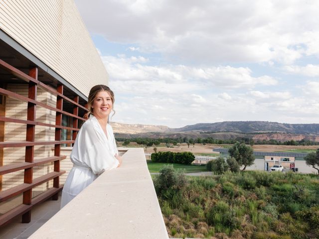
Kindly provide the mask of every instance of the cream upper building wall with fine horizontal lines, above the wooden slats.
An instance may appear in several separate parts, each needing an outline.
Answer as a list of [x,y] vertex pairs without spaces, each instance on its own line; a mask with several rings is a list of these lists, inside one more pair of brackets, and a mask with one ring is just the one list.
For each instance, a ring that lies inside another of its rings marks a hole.
[[84,95],[108,85],[73,0],[0,0],[0,29]]

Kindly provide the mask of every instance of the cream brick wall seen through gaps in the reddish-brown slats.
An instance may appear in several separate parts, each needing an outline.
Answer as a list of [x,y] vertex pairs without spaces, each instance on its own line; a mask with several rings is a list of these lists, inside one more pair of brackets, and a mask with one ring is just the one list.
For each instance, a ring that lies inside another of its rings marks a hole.
[[[28,95],[27,84],[8,84],[7,90],[15,92],[19,95]],[[37,100],[56,107],[56,97],[52,94],[37,89]],[[5,117],[13,119],[26,119],[27,103],[20,102],[11,98],[6,99]],[[43,123],[55,124],[55,112],[39,106],[36,107],[36,121]],[[4,141],[25,141],[26,125],[20,123],[5,122],[4,126]],[[45,126],[35,126],[35,141],[53,141],[55,128]],[[52,151],[53,145],[34,146],[34,159],[45,158],[54,155]],[[24,162],[25,147],[4,148],[3,150],[3,165]],[[53,163],[47,163],[33,167],[33,178],[45,175],[53,171]],[[23,183],[24,170],[8,173],[2,176],[2,190],[14,187]],[[36,192],[42,192],[52,187],[52,180],[39,185],[33,189],[34,196]]]

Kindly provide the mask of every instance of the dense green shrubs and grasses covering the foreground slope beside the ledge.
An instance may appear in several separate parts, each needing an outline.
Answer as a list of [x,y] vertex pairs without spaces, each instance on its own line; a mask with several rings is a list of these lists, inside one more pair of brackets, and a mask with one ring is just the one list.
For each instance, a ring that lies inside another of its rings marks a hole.
[[170,237],[319,238],[316,175],[228,171],[185,179],[165,167],[154,185]]

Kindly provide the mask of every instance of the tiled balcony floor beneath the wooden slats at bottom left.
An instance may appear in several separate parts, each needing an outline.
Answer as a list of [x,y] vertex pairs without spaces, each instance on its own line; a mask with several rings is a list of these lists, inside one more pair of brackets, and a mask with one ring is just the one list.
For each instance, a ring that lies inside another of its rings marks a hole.
[[21,223],[21,216],[0,228],[0,239],[26,239],[60,210],[60,200],[47,200],[31,211],[31,222]]

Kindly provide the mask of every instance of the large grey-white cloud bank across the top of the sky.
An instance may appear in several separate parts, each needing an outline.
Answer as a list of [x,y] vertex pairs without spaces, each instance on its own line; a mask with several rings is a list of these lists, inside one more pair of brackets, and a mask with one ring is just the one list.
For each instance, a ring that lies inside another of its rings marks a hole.
[[174,59],[292,64],[319,54],[319,1],[100,0],[92,4],[76,0],[76,4],[92,33]]

